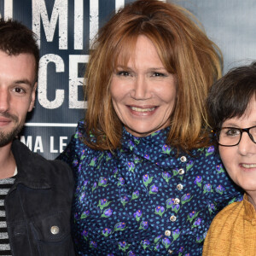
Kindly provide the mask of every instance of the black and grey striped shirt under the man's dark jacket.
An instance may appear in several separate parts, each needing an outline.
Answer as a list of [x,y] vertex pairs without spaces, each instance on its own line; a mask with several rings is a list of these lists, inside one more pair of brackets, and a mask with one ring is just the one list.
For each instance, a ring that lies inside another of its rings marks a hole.
[[9,189],[15,183],[15,177],[0,179],[0,255],[11,256],[9,247],[9,237],[7,232],[4,199],[8,194]]

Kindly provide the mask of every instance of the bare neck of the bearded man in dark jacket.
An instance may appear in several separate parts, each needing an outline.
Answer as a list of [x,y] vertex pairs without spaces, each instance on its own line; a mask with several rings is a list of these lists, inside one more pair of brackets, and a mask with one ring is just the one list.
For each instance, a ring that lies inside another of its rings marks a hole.
[[15,173],[15,157],[11,151],[12,143],[0,148],[0,179],[12,177]]

